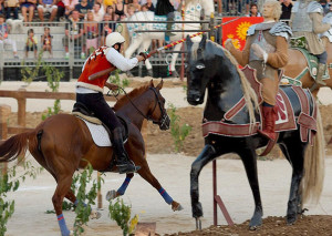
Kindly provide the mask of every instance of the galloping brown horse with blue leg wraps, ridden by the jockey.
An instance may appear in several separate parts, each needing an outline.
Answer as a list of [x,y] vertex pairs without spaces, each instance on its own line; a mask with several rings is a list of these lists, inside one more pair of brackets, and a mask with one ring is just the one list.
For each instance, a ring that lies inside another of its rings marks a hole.
[[[141,166],[138,174],[153,185],[172,205],[173,211],[181,209],[180,204],[173,201],[159,182],[151,173],[145,158],[144,140],[141,129],[144,119],[157,123],[160,130],[169,127],[169,117],[165,110],[165,99],[159,90],[163,81],[154,86],[153,81],[148,85],[133,90],[127,96],[123,96],[114,110],[116,114],[129,120],[128,140],[125,148],[132,161]],[[33,131],[17,134],[0,145],[0,162],[10,162],[20,153],[29,148],[32,156],[55,178],[58,186],[52,197],[59,226],[62,235],[70,235],[63,215],[62,202],[66,197],[76,203],[76,197],[71,191],[72,176],[77,168],[84,168],[87,162],[96,171],[107,170],[112,161],[112,147],[100,147],[94,144],[85,123],[71,114],[58,114],[46,119]],[[117,172],[116,166],[112,172]],[[134,174],[127,174],[123,186],[116,192],[116,196],[124,194],[125,188]]]

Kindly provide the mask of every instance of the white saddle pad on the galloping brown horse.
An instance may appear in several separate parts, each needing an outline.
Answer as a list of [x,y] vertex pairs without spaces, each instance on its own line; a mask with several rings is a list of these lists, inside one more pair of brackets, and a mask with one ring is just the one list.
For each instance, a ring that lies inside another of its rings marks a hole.
[[84,121],[84,123],[86,124],[92,140],[95,143],[95,145],[97,146],[112,146],[111,140],[110,140],[110,135],[106,131],[106,129],[101,125],[101,124],[93,124],[90,123],[83,119],[81,119],[82,121]]

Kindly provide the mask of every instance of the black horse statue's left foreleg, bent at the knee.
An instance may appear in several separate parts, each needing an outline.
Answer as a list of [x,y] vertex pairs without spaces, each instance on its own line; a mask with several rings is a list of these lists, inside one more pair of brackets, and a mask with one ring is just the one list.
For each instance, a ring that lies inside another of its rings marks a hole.
[[203,216],[201,204],[199,203],[199,184],[198,177],[201,168],[216,157],[214,146],[207,144],[200,152],[199,156],[193,162],[190,171],[190,197],[193,217],[196,219]]

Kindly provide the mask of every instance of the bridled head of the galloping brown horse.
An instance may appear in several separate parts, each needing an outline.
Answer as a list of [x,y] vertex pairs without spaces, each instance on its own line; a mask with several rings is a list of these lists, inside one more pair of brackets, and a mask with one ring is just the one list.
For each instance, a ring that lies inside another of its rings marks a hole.
[[151,103],[147,120],[153,121],[154,124],[158,124],[162,131],[166,131],[169,129],[170,120],[165,109],[165,99],[160,94],[163,83],[164,81],[162,80],[160,83],[155,86],[153,80],[151,80],[148,84],[149,90],[154,93],[155,102]]

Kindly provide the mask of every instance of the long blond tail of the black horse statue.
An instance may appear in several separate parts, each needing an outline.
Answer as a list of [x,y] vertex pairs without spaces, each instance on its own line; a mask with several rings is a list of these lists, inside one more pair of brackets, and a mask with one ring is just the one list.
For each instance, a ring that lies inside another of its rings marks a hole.
[[303,203],[318,203],[324,182],[324,134],[322,117],[317,107],[317,134],[313,146],[308,145],[304,156],[304,176],[302,178]]

